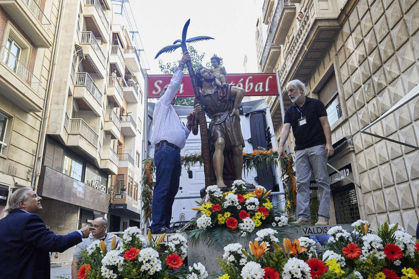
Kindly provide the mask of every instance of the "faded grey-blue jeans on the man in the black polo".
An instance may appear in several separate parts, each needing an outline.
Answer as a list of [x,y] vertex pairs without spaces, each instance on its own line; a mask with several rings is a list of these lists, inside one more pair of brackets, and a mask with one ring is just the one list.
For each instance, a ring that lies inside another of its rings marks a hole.
[[297,179],[297,208],[295,219],[310,220],[310,177],[314,174],[318,185],[320,206],[318,217],[330,219],[330,182],[327,172],[325,144],[295,151],[295,174]]

